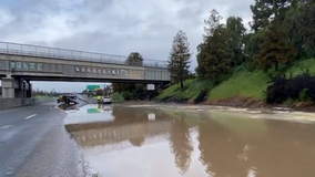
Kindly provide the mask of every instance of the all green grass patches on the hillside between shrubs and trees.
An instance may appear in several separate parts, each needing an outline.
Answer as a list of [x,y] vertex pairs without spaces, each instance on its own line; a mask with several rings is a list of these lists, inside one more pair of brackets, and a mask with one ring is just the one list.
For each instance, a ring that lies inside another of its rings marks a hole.
[[[303,70],[308,70],[309,73],[315,75],[315,60],[305,60],[295,63],[292,67],[287,69],[286,75],[297,75]],[[159,96],[159,100],[166,97],[182,97],[195,98],[203,88],[209,88],[207,97],[212,98],[228,98],[233,96],[264,98],[263,91],[268,86],[270,76],[263,71],[240,71],[235,73],[227,81],[212,87],[210,83],[201,83],[197,80],[187,80],[184,83],[185,90],[180,92],[180,85],[172,85],[164,90]]]

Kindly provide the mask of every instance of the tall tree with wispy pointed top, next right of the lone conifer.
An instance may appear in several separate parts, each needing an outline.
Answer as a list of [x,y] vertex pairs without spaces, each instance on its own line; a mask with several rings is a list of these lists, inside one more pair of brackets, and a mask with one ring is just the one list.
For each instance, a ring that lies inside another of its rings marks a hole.
[[[205,20],[205,35],[197,46],[196,55],[199,65],[195,71],[199,79],[210,80],[214,84],[223,81],[233,70],[227,43],[235,40],[230,40],[233,33],[228,37],[227,29],[220,22],[221,19],[216,10],[211,11],[209,19]],[[232,29],[233,25],[230,27]]]

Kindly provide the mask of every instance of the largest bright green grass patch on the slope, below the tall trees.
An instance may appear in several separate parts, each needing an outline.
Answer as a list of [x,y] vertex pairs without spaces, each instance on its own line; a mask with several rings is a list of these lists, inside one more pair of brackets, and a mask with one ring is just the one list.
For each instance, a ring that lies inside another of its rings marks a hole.
[[210,93],[209,98],[226,98],[233,96],[244,96],[263,98],[263,91],[267,87],[270,77],[263,71],[238,72]]

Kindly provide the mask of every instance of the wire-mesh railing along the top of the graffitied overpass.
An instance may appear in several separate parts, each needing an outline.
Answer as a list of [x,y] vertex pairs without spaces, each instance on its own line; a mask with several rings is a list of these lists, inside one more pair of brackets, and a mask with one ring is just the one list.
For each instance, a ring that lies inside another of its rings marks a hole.
[[78,60],[85,62],[102,62],[108,64],[122,64],[122,65],[133,65],[133,66],[143,65],[143,66],[153,66],[153,67],[163,67],[163,69],[165,69],[167,65],[166,61],[160,61],[160,60],[144,59],[143,64],[141,65],[139,63],[126,63],[128,56],[122,56],[122,55],[40,46],[32,44],[21,44],[21,43],[12,43],[3,41],[0,41],[0,53],[53,58],[62,60]]

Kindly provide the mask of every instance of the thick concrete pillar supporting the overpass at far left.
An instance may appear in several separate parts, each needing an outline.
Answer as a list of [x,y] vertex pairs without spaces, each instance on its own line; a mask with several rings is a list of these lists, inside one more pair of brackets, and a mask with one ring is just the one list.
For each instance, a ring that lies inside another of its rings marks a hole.
[[4,77],[1,80],[2,83],[2,97],[14,98],[21,96],[19,80],[12,77]]

